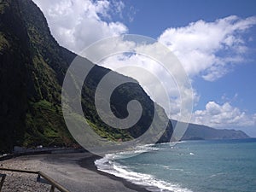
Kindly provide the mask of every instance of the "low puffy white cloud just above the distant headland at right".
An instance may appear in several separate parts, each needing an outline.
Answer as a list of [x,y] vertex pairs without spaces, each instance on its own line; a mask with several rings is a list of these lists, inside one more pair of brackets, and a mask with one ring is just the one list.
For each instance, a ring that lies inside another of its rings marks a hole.
[[247,114],[229,102],[220,105],[208,102],[204,110],[193,113],[192,123],[219,128],[237,128],[256,125],[256,113]]

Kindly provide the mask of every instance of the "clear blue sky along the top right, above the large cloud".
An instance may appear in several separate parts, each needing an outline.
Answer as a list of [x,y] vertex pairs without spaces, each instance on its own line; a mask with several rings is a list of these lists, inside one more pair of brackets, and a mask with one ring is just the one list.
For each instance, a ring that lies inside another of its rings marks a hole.
[[197,20],[213,21],[230,15],[248,17],[255,15],[255,1],[237,0],[155,0],[125,1],[134,7],[133,22],[125,20],[129,32],[158,38],[167,27],[187,26]]

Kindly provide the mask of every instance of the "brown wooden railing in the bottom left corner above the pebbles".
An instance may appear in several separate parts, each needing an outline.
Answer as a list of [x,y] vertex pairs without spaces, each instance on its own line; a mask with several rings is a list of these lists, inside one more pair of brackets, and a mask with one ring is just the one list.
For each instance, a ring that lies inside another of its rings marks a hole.
[[[67,190],[64,187],[62,187],[61,184],[55,182],[54,179],[52,179],[51,177],[46,175],[44,172],[40,172],[40,171],[39,172],[34,172],[34,171],[28,171],[28,170],[8,169],[8,168],[2,168],[2,167],[0,167],[0,171],[5,171],[5,172],[25,172],[25,173],[37,174],[38,175],[38,178],[37,178],[38,182],[42,182],[41,177],[43,177],[45,181],[43,181],[42,183],[48,183],[48,184],[51,185],[51,188],[50,188],[49,192],[54,192],[55,189],[59,189],[61,192],[70,192],[69,190]],[[4,179],[6,177],[6,174],[0,174],[0,177],[2,177],[2,179],[0,181],[0,192],[1,192],[2,191],[2,187],[3,187],[3,183],[4,183]]]

